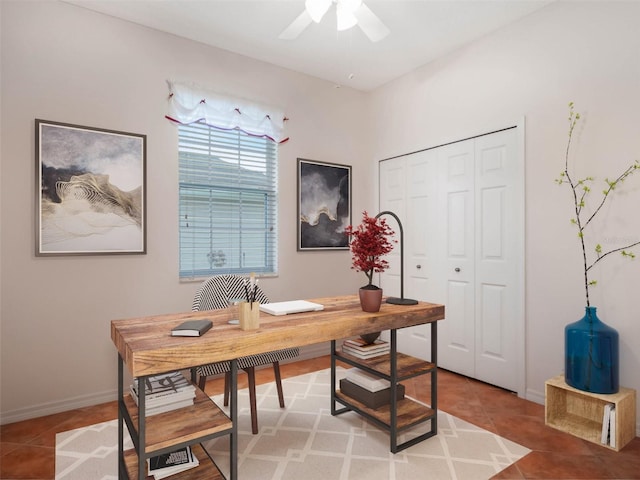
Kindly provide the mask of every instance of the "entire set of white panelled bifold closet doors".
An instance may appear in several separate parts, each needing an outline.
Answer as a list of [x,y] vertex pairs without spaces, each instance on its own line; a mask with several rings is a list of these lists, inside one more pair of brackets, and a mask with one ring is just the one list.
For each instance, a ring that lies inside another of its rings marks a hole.
[[[524,162],[518,129],[380,164],[380,208],[405,227],[404,296],[445,305],[438,364],[523,393]],[[399,251],[381,276],[398,296]],[[426,326],[400,351],[430,358]]]

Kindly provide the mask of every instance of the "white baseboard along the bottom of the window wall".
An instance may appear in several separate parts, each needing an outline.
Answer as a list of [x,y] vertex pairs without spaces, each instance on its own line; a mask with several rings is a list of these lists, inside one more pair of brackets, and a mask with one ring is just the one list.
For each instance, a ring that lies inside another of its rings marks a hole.
[[[298,360],[308,360],[311,358],[329,355],[330,348],[331,346],[329,342],[302,347],[300,349],[300,356],[298,358],[285,360],[281,363],[291,363]],[[40,405],[18,408],[16,410],[2,412],[2,415],[0,417],[0,425],[21,422],[23,420],[30,420],[32,418],[43,417],[46,415],[53,415],[55,413],[66,412],[68,410],[74,410],[76,408],[90,407],[93,405],[99,405],[101,403],[112,402],[114,400],[117,400],[117,398],[118,387],[115,386],[113,390],[66,398],[55,402],[42,403]]]

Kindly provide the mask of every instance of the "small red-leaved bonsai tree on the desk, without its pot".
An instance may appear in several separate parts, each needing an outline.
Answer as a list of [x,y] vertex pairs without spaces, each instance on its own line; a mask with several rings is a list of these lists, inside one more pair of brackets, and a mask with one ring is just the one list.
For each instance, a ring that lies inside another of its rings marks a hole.
[[[389,241],[394,231],[387,225],[383,218],[370,217],[366,211],[362,214],[362,223],[356,228],[349,225],[345,233],[351,237],[351,254],[353,263],[351,268],[356,272],[364,272],[369,280],[362,288],[374,290],[373,274],[382,273],[389,268],[389,262],[381,257],[393,250],[393,244]],[[394,240],[395,242],[395,240]]]

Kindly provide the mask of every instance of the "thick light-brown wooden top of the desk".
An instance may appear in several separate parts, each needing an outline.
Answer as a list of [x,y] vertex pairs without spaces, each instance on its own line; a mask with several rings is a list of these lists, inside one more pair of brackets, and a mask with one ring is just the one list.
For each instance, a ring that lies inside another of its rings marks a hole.
[[[251,331],[229,325],[224,309],[112,320],[111,340],[129,372],[139,377],[444,318],[444,306],[433,303],[383,303],[379,312],[367,313],[356,295],[311,301],[324,305],[324,310],[283,316],[260,312],[260,328]],[[171,336],[180,323],[201,318],[213,322],[201,337]]]

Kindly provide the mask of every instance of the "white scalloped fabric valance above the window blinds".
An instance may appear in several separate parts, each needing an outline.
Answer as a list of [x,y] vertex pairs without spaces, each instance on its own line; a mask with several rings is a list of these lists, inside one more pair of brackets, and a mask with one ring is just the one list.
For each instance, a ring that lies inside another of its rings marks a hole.
[[220,95],[186,83],[169,81],[169,112],[177,123],[204,123],[210,127],[237,128],[249,135],[277,143],[289,140],[284,133],[286,119],[281,110],[242,98]]

